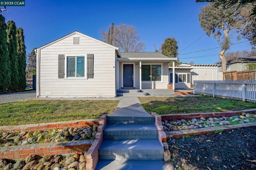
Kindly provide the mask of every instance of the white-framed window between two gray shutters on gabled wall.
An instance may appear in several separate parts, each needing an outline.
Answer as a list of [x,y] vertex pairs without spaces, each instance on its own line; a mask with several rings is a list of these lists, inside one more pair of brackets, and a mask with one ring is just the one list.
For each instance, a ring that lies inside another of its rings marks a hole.
[[67,57],[67,77],[85,77],[84,56]]

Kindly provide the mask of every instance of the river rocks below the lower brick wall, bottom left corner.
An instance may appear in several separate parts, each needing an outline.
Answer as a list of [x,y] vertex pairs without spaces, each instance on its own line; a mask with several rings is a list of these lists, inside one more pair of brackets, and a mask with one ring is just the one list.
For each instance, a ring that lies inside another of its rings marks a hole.
[[27,156],[24,160],[0,159],[1,170],[84,170],[86,167],[86,152],[68,156],[46,155]]

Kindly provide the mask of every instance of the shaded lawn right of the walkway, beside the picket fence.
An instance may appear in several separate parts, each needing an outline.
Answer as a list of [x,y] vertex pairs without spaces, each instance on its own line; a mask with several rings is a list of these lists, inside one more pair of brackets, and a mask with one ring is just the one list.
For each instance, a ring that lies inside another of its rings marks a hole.
[[202,97],[140,97],[140,103],[148,113],[159,115],[180,113],[207,113],[241,111],[256,108],[256,103]]

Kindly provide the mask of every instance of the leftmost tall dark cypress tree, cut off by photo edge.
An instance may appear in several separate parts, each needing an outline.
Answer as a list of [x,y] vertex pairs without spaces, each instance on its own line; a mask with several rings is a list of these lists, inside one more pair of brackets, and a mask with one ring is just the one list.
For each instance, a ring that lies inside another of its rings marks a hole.
[[0,14],[0,92],[5,92],[10,85],[10,62],[6,29],[5,18]]

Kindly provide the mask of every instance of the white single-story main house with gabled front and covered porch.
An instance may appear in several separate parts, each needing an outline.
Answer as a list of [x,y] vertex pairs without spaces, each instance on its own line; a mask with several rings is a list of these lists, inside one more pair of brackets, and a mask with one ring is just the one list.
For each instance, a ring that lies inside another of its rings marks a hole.
[[167,89],[161,53],[120,53],[118,47],[74,31],[36,49],[37,97],[115,97],[116,90]]

